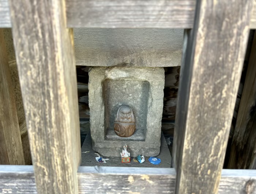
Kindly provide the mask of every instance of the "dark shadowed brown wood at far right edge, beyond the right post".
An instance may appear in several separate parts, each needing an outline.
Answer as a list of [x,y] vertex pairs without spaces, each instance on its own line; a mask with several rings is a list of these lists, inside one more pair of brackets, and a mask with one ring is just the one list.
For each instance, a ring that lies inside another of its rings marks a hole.
[[230,169],[256,169],[256,34],[231,144]]

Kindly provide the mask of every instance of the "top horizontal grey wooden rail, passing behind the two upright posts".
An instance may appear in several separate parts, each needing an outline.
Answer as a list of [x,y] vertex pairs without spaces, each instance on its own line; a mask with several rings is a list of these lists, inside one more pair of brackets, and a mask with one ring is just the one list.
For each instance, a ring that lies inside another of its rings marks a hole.
[[[188,29],[193,27],[195,2],[196,0],[66,0],[67,25],[70,28]],[[10,27],[8,0],[0,0],[0,28]],[[250,28],[256,28],[256,6]]]

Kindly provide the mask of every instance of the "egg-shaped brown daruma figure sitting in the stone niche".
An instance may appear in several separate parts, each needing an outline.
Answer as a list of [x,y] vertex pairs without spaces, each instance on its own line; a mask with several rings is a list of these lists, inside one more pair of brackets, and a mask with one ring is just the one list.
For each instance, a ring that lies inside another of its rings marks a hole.
[[114,122],[114,131],[120,137],[129,137],[135,131],[135,119],[132,109],[128,106],[121,106]]

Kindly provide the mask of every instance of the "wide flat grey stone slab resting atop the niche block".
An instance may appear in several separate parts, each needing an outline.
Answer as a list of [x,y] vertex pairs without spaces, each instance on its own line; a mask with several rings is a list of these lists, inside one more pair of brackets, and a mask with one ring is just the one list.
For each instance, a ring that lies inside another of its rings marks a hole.
[[80,66],[180,66],[183,29],[74,29]]

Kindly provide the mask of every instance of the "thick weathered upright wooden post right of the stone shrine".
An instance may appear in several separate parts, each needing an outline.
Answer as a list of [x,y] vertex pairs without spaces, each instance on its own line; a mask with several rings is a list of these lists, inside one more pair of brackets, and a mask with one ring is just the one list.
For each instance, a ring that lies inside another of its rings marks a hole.
[[197,1],[186,30],[174,131],[176,194],[218,193],[252,1]]

